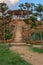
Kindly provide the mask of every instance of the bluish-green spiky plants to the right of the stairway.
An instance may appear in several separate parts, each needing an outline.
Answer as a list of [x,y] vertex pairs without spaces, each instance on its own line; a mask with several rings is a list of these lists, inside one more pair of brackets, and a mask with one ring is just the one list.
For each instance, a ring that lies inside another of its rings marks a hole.
[[[42,40],[43,40],[43,33],[41,32],[41,34],[42,34]],[[41,40],[40,32],[37,32],[37,33],[34,33],[34,32],[33,32],[33,33],[31,34],[31,37],[30,37],[30,36],[27,36],[26,39],[25,39],[26,42],[28,42],[29,40],[31,40],[31,38],[32,38],[33,41]]]

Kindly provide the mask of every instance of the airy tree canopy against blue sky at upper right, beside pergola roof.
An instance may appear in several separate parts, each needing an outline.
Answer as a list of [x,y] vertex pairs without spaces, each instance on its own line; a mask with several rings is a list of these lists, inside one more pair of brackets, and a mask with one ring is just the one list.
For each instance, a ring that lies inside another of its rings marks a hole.
[[[25,10],[27,13],[27,19],[29,18],[28,15],[32,15],[31,19],[34,22],[35,20],[38,20],[37,18],[39,17],[40,20],[42,20],[43,18],[43,5],[42,4],[34,4],[34,3],[21,3],[19,5],[21,10]],[[31,14],[28,14],[28,11],[31,12]],[[33,16],[34,15],[34,16]]]

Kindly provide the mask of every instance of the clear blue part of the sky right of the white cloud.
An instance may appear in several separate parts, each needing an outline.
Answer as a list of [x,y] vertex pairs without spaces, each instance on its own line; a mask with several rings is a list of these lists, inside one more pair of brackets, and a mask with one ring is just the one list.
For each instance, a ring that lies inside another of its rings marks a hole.
[[10,9],[18,9],[18,5],[20,3],[25,3],[25,2],[29,2],[29,3],[35,3],[35,4],[42,4],[43,5],[43,0],[19,0],[16,4],[10,5]]

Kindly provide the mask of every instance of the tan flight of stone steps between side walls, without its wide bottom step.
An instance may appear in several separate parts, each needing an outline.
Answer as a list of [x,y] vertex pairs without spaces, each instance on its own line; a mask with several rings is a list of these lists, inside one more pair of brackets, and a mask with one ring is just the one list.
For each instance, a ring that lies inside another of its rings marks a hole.
[[15,43],[21,43],[22,41],[23,41],[23,38],[22,38],[22,27],[21,27],[20,23],[17,23],[16,24],[16,28],[15,28],[14,42]]

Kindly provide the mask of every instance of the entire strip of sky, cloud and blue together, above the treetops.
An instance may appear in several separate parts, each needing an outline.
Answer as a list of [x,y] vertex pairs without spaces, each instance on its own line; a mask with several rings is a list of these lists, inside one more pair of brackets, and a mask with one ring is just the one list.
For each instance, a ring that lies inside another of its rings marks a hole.
[[0,0],[1,2],[6,2],[9,9],[14,10],[14,9],[18,9],[18,5],[20,3],[25,3],[25,2],[29,2],[29,3],[35,3],[35,4],[42,4],[43,5],[43,0]]

